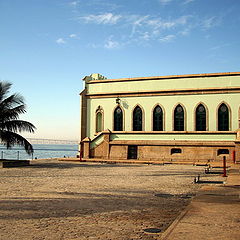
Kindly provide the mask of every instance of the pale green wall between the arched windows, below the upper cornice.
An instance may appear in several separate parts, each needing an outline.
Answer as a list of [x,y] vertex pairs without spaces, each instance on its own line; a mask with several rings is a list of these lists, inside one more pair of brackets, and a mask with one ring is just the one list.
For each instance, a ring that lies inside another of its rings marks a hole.
[[[156,104],[160,104],[164,110],[164,131],[173,131],[173,111],[178,103],[185,108],[186,131],[195,130],[194,111],[199,103],[204,103],[208,112],[208,130],[217,130],[217,109],[222,102],[230,106],[230,130],[238,129],[238,109],[240,106],[240,94],[212,94],[190,96],[154,96],[154,97],[126,97],[121,98],[121,106],[124,109],[124,131],[132,130],[132,111],[138,104],[144,110],[144,130],[152,130],[152,111]],[[113,130],[113,111],[116,107],[115,98],[101,98],[88,100],[88,132],[92,138],[95,134],[95,112],[98,106],[104,111],[103,129]]]

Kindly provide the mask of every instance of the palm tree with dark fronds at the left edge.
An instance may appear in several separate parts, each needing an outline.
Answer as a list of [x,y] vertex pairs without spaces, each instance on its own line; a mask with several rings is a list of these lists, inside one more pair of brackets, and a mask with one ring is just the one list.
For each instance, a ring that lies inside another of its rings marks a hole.
[[7,149],[14,145],[23,146],[30,155],[33,153],[31,143],[18,132],[34,133],[36,128],[30,122],[19,120],[19,114],[26,112],[26,105],[21,95],[15,93],[8,96],[11,86],[9,82],[0,82],[0,142]]

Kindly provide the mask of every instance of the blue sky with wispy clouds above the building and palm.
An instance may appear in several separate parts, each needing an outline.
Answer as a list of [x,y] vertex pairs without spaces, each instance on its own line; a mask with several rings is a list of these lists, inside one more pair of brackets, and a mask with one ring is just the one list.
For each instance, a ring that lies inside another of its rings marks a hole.
[[82,78],[240,71],[239,0],[0,0],[0,80],[34,135],[79,138]]

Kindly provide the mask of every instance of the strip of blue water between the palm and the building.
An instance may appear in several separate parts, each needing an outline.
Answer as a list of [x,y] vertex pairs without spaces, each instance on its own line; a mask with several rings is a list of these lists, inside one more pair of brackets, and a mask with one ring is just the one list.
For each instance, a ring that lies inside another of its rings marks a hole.
[[40,159],[40,158],[62,158],[62,157],[76,157],[78,153],[78,145],[71,144],[33,144],[33,156],[28,155],[21,147],[13,147],[6,149],[5,146],[0,145],[0,158],[3,159]]

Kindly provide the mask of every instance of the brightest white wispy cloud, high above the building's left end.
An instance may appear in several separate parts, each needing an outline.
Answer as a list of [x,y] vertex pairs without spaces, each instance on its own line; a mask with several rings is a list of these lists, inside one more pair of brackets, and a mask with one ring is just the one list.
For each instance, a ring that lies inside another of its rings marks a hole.
[[85,17],[80,17],[80,19],[84,19],[87,23],[93,22],[96,24],[116,24],[121,17],[122,17],[121,15],[105,13],[100,15],[91,14]]

